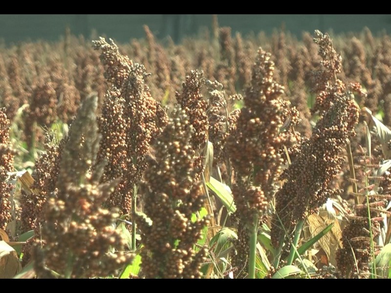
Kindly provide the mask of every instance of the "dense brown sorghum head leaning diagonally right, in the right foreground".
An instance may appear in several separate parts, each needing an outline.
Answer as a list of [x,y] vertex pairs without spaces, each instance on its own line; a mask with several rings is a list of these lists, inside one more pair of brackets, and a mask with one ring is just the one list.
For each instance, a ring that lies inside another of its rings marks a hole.
[[355,135],[359,111],[351,93],[336,96],[329,110],[318,121],[309,139],[303,141],[296,159],[282,174],[283,187],[276,194],[272,241],[278,245],[281,225],[291,231],[298,220],[316,212],[337,190],[329,184],[341,172],[346,142]]

